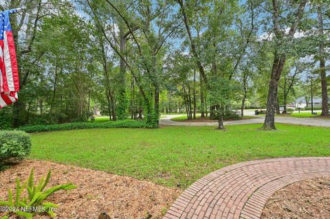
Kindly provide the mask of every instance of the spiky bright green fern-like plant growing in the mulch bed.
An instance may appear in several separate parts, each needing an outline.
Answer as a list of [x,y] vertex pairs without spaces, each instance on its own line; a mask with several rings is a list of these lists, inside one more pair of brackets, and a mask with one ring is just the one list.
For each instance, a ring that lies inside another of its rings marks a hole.
[[[10,211],[1,219],[8,219],[8,216],[17,215],[21,218],[32,219],[33,216],[40,213],[47,213],[51,218],[56,216],[54,209],[58,205],[54,203],[47,203],[45,199],[59,190],[76,189],[76,185],[72,183],[64,185],[56,185],[50,189],[45,187],[50,182],[51,170],[48,172],[46,178],[42,177],[39,183],[34,184],[34,170],[30,172],[28,181],[21,184],[19,178],[16,178],[15,197],[12,195],[12,190],[8,189],[8,200],[0,201],[0,206],[8,207]],[[22,197],[23,191],[27,189],[28,196]],[[41,210],[41,211],[40,211]]]

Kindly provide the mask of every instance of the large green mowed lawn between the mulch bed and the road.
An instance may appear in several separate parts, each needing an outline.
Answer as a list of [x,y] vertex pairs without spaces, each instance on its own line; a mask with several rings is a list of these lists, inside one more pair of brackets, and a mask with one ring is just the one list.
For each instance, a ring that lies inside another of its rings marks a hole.
[[187,187],[225,165],[271,157],[330,156],[330,128],[261,124],[158,129],[93,129],[32,135],[30,159],[43,159]]

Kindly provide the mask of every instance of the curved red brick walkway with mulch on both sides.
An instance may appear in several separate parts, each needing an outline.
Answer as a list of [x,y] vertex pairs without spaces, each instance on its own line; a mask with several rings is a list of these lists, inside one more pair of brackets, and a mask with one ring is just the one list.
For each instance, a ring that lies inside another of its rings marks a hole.
[[268,198],[286,185],[330,176],[330,157],[266,159],[229,165],[199,179],[164,219],[260,218]]

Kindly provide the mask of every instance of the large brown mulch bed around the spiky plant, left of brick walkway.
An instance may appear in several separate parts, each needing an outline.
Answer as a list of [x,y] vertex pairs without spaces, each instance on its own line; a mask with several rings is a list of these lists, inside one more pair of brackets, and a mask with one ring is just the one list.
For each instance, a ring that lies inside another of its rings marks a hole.
[[[58,192],[47,200],[61,204],[56,218],[98,218],[107,212],[111,218],[162,218],[181,191],[139,181],[128,176],[77,168],[47,161],[23,161],[0,172],[0,200],[7,199],[7,189],[14,189],[15,178],[24,181],[34,168],[40,179],[52,169],[50,185],[72,182],[77,189]],[[0,218],[3,213],[0,212]],[[36,218],[49,218],[38,216]]]

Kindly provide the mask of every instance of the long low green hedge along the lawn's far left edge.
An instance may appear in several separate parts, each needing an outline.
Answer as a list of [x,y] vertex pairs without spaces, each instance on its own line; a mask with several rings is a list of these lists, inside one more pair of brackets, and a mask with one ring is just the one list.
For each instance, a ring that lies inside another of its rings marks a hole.
[[120,120],[111,122],[72,122],[65,124],[54,125],[34,125],[34,126],[21,126],[18,130],[23,130],[28,133],[32,132],[50,132],[58,130],[73,130],[73,129],[90,129],[90,128],[154,128],[146,125],[144,121],[137,120]]

